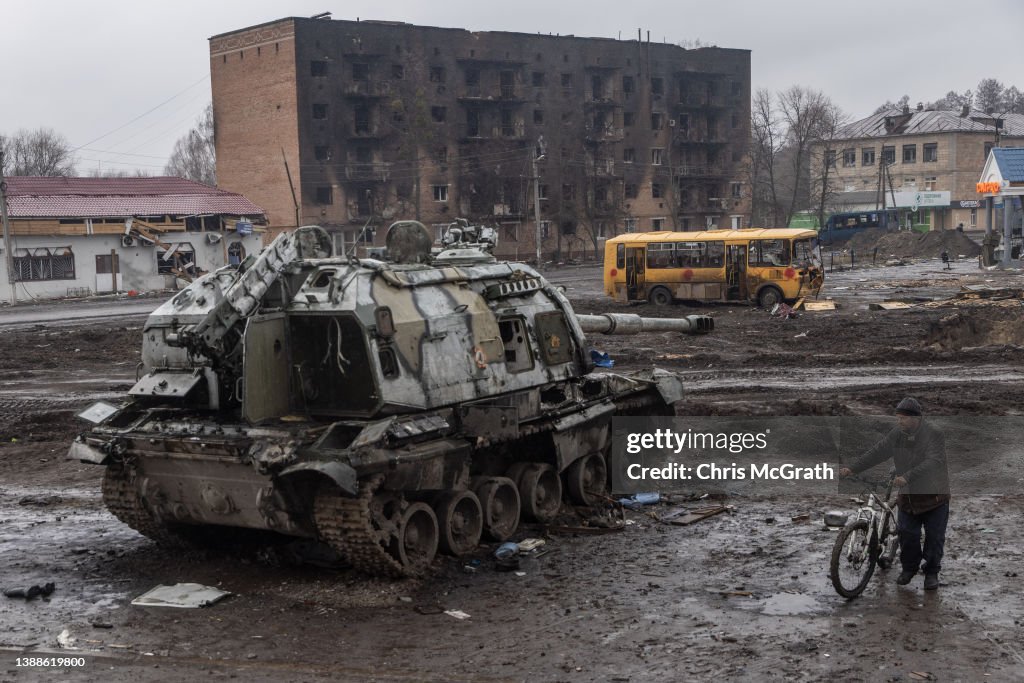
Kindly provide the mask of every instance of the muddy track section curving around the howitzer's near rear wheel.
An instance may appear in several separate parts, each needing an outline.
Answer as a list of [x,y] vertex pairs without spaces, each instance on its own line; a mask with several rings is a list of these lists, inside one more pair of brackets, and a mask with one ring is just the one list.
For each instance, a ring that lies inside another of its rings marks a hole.
[[316,532],[359,571],[408,577],[411,569],[387,552],[380,544],[381,532],[373,527],[370,504],[383,480],[384,475],[377,475],[364,481],[355,498],[343,496],[333,484],[322,486],[313,504]]

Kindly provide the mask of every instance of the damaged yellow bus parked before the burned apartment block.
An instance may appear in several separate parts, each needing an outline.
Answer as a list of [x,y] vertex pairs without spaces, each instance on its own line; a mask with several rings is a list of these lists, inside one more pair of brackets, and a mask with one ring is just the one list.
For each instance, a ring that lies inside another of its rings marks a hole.
[[746,228],[628,232],[604,246],[604,292],[618,301],[752,301],[771,308],[824,283],[817,232]]

